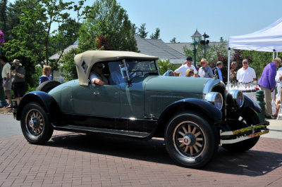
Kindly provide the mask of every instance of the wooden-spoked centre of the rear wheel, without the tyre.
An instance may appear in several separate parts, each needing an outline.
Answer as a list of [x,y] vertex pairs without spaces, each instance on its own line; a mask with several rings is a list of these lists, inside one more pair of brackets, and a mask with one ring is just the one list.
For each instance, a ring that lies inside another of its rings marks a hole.
[[43,117],[37,110],[30,110],[25,117],[25,124],[29,134],[39,136],[43,130]]

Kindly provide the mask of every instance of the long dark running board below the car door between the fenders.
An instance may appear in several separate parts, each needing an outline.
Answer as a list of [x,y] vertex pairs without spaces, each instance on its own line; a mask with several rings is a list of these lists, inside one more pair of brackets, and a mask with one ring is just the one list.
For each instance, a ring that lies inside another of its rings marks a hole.
[[121,136],[130,136],[135,138],[147,138],[150,134],[147,132],[137,132],[137,131],[124,131],[116,129],[101,129],[94,127],[81,127],[75,125],[66,125],[66,126],[54,126],[53,128],[58,131],[74,131],[74,132],[99,132],[104,134],[115,134]]

